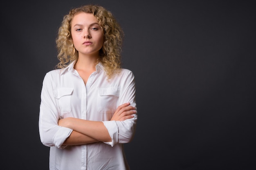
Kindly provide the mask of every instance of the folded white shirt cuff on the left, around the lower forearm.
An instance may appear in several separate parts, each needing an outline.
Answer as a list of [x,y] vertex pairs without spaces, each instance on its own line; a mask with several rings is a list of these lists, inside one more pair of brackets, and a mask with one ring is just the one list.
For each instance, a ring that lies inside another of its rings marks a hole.
[[66,146],[62,146],[62,144],[65,142],[67,137],[70,136],[72,133],[72,129],[61,127],[58,129],[57,133],[55,134],[53,138],[53,143],[57,148],[64,149]]

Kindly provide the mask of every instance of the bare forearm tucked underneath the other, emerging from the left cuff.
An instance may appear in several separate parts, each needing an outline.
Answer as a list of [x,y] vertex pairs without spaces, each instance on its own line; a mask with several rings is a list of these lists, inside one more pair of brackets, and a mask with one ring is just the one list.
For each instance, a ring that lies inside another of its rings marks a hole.
[[90,144],[94,142],[99,142],[98,140],[89,137],[87,135],[84,135],[82,133],[79,133],[77,131],[72,131],[70,136],[65,140],[65,142],[62,144],[65,145],[81,145],[81,144]]

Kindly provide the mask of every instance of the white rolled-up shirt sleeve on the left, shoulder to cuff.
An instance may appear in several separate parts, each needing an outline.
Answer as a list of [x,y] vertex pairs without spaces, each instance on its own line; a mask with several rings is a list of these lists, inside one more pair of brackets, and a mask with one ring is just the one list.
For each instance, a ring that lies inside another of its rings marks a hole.
[[58,126],[58,109],[52,87],[52,76],[47,73],[43,80],[39,111],[39,135],[45,146],[63,149],[63,142],[70,136],[72,129]]

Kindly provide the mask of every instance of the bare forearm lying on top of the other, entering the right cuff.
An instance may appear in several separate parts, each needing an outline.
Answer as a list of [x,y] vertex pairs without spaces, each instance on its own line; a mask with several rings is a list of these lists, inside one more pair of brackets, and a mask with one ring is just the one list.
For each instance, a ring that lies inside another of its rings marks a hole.
[[96,141],[111,142],[111,137],[108,133],[108,130],[101,121],[65,118],[63,120],[59,120],[59,125],[73,129],[74,131],[82,133],[83,135]]

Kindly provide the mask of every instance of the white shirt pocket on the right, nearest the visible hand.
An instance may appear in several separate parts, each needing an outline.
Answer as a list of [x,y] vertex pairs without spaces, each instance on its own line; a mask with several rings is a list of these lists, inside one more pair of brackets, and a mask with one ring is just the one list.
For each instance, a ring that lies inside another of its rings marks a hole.
[[119,87],[98,88],[98,111],[100,113],[115,113],[119,93]]

